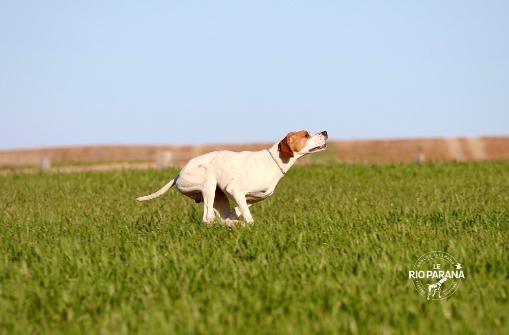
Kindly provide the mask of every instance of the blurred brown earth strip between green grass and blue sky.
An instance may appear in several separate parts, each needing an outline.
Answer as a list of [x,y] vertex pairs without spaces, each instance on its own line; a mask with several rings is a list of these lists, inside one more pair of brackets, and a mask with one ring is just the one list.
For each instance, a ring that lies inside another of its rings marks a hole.
[[[79,146],[0,151],[0,170],[97,170],[182,166],[189,159],[215,150],[262,150],[272,143],[194,146]],[[309,162],[412,162],[509,159],[509,137],[423,138],[329,141]],[[45,161],[46,163],[41,163]],[[42,164],[42,165],[41,165]]]

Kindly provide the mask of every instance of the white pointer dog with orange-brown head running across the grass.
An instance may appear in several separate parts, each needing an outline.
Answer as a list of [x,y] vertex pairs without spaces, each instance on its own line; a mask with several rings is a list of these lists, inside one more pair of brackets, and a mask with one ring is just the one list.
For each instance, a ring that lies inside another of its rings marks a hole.
[[[300,130],[262,151],[214,151],[191,159],[159,191],[136,200],[157,198],[176,186],[196,203],[203,202],[203,222],[219,219],[230,226],[240,223],[237,219],[242,216],[253,224],[249,207],[271,196],[297,159],[325,150],[327,137],[326,131],[312,135]],[[235,203],[233,209],[228,199]]]

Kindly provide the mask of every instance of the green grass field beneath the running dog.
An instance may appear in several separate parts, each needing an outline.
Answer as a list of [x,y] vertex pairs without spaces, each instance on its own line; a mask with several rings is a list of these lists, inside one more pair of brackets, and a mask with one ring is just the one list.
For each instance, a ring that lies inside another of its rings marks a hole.
[[177,172],[0,176],[0,333],[509,333],[509,162],[295,166],[234,229],[135,201]]

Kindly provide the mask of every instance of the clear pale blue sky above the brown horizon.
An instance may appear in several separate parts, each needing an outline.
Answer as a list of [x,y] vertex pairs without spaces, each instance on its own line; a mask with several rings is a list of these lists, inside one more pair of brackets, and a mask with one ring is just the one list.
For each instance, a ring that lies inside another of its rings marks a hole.
[[0,149],[509,135],[507,1],[11,1]]

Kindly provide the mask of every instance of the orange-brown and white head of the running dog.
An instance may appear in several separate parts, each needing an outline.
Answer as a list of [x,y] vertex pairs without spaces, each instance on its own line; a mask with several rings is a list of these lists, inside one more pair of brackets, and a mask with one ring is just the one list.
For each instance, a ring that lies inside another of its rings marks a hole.
[[292,158],[295,155],[303,156],[323,151],[327,147],[327,132],[323,131],[315,135],[310,134],[306,130],[291,132],[279,142],[277,150],[281,152],[281,156]]

